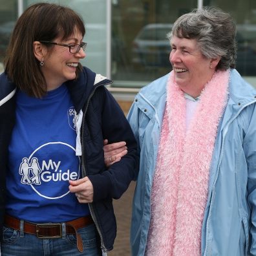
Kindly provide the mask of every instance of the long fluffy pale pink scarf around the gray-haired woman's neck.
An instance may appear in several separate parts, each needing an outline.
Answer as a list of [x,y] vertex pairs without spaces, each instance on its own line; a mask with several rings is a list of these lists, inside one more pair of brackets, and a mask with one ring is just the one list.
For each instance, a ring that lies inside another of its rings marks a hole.
[[184,92],[171,72],[153,180],[146,255],[200,255],[209,168],[228,98],[228,81],[229,70],[213,74],[186,131]]

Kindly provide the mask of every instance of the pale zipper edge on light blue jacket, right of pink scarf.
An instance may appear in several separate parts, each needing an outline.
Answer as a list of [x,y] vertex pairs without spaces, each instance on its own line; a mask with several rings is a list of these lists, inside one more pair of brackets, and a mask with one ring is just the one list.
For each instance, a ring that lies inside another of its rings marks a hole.
[[229,120],[229,122],[226,124],[226,127],[224,127],[223,129],[223,138],[222,138],[222,143],[221,143],[221,152],[220,152],[220,161],[217,167],[217,175],[216,178],[213,182],[213,189],[212,189],[212,195],[211,195],[211,202],[210,202],[210,206],[209,206],[209,215],[206,221],[206,248],[204,250],[204,256],[207,256],[207,250],[208,250],[208,229],[209,229],[209,218],[211,217],[211,209],[212,209],[212,203],[215,197],[215,186],[219,177],[219,171],[220,171],[220,164],[222,162],[222,158],[223,158],[223,154],[224,154],[224,140],[226,137],[226,134],[228,133],[228,127],[230,125],[231,122],[233,122],[233,120],[235,120],[235,118],[237,118],[237,116],[239,116],[240,112],[242,112],[242,110],[246,107],[248,107],[249,105],[255,103],[256,100],[251,101],[250,103],[247,103],[246,105],[244,105],[244,107],[242,107],[239,112],[237,112],[237,114],[235,116],[233,116],[233,118],[231,118],[231,120]]

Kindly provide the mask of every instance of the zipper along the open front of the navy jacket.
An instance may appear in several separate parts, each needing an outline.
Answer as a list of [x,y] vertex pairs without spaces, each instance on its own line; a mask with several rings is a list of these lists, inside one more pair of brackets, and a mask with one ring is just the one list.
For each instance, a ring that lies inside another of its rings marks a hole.
[[[90,94],[88,100],[87,100],[87,105],[85,107],[85,112],[83,113],[83,121],[82,121],[82,124],[81,124],[81,127],[82,127],[82,131],[81,131],[81,151],[82,151],[82,155],[81,155],[81,165],[82,165],[82,176],[85,177],[87,175],[87,171],[86,171],[86,168],[85,168],[85,158],[84,158],[84,148],[83,148],[83,133],[84,133],[84,130],[83,130],[83,127],[84,127],[84,123],[85,123],[85,116],[86,116],[86,113],[87,113],[87,109],[88,109],[88,106],[89,106],[89,103],[91,101],[91,98],[92,96],[94,95],[94,92],[96,91],[96,89],[98,89],[98,87],[100,86],[103,86],[103,85],[109,85],[111,83],[105,83],[105,84],[102,84],[102,85],[94,85],[94,90],[92,91],[92,93]],[[98,224],[98,221],[96,219],[96,215],[95,215],[95,212],[94,212],[94,209],[92,207],[92,203],[88,203],[88,206],[89,206],[89,210],[90,210],[90,213],[91,213],[91,216],[92,216],[92,220],[94,221],[94,224],[96,226],[96,229],[100,235],[100,242],[101,242],[101,249],[104,251],[104,252],[107,252],[107,248],[103,242],[103,236],[102,236],[102,233],[100,231],[100,226]]]

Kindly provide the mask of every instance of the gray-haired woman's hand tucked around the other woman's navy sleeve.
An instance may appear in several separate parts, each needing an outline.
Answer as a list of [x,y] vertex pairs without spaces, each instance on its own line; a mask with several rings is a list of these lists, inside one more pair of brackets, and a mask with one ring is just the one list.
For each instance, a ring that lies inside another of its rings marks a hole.
[[107,167],[119,162],[127,154],[126,142],[116,142],[107,144],[108,140],[103,141],[104,162]]

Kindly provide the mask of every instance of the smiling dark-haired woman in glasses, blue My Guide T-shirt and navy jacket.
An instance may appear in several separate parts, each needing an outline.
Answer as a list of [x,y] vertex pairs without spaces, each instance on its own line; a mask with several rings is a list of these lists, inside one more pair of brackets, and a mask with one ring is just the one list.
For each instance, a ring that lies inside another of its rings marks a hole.
[[[38,3],[19,17],[0,76],[1,254],[102,255],[120,198],[136,176],[136,140],[112,83],[81,67],[85,27],[67,7]],[[125,140],[105,168],[103,138]]]

